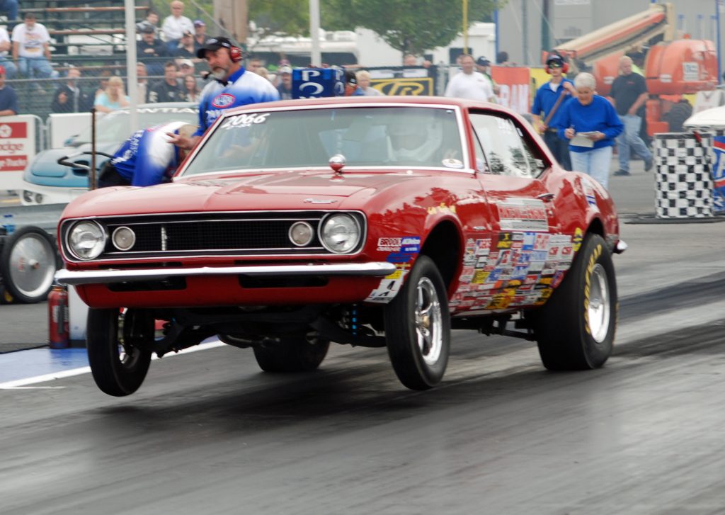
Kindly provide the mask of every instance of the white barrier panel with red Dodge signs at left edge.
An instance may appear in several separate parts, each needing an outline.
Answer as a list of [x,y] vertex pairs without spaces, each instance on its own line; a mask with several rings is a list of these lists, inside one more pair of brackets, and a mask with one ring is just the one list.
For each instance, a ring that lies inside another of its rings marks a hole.
[[0,189],[20,189],[22,171],[43,147],[43,122],[36,115],[0,118]]

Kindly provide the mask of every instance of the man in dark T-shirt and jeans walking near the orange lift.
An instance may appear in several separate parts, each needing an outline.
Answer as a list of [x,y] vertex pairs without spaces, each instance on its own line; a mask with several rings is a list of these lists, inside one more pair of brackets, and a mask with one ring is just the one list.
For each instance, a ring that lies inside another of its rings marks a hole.
[[653,157],[645,141],[639,136],[642,127],[642,118],[637,111],[647,102],[647,83],[642,75],[632,72],[631,57],[622,56],[619,59],[619,76],[614,79],[610,96],[614,101],[619,117],[624,123],[624,132],[617,139],[617,153],[619,170],[614,175],[629,176],[630,148],[634,153],[645,160],[645,172],[652,170]]

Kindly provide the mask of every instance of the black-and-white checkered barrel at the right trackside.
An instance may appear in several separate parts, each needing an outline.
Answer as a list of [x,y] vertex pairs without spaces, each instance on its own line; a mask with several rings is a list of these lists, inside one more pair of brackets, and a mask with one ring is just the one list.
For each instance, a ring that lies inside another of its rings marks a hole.
[[655,134],[655,216],[710,218],[713,216],[711,163],[713,135]]

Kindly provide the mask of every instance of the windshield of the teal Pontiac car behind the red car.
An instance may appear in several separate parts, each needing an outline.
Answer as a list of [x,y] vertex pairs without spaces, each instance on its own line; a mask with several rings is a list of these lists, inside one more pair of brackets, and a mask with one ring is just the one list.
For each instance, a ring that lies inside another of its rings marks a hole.
[[[189,107],[139,107],[138,125],[139,128],[149,128],[170,121],[185,121],[196,125],[199,122],[195,106]],[[130,117],[128,110],[109,112],[100,118],[96,123],[96,142],[113,143],[125,141],[130,135]],[[91,142],[91,128],[74,136],[71,144],[78,146]]]

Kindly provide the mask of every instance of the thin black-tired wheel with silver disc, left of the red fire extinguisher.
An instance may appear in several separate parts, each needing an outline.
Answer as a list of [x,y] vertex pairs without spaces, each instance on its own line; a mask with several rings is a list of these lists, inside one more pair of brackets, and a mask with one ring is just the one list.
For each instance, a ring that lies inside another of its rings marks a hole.
[[0,253],[0,276],[12,300],[45,300],[56,270],[55,244],[40,227],[20,228],[5,240]]

